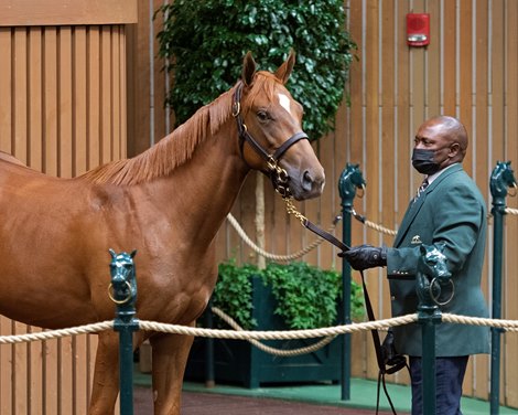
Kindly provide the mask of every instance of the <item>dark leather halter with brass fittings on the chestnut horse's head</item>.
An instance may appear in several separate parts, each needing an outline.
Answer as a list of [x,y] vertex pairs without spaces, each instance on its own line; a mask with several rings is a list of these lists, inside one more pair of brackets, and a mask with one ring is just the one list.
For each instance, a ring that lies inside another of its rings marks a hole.
[[[244,156],[244,146],[245,141],[247,141],[250,147],[267,162],[268,171],[263,171],[267,174],[273,188],[283,196],[290,198],[291,192],[289,188],[290,177],[288,172],[281,168],[278,163],[278,160],[288,151],[288,149],[293,146],[295,142],[300,141],[301,139],[306,139],[307,135],[304,131],[300,131],[291,136],[288,140],[285,140],[272,155],[268,153],[259,142],[248,132],[248,128],[246,124],[242,121],[241,118],[241,93],[242,93],[242,82],[239,82],[236,92],[234,93],[234,103],[233,103],[233,116],[236,118],[237,121],[237,131],[239,135],[239,149],[241,151],[241,159],[245,160]],[[246,162],[246,160],[245,160]]]

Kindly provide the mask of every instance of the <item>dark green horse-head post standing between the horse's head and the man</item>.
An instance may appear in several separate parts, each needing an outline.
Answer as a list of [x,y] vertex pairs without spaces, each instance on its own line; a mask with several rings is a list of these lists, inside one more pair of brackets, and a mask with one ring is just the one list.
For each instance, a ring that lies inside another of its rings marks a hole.
[[[338,191],[342,199],[342,241],[350,245],[350,219],[353,214],[353,200],[356,196],[356,189],[365,188],[365,180],[359,164],[347,163],[338,181]],[[350,323],[350,265],[347,260],[342,262],[342,316],[344,324]],[[350,400],[350,334],[343,336],[342,347],[342,401]]]

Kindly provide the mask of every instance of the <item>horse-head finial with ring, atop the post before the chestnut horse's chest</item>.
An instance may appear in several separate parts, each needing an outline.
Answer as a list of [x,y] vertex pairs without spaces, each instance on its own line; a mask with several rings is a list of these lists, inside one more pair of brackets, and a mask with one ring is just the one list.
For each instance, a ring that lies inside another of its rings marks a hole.
[[137,279],[133,257],[137,254],[137,249],[130,254],[126,252],[117,254],[110,248],[109,253],[111,255],[111,284],[108,295],[117,305],[134,305],[137,300]]

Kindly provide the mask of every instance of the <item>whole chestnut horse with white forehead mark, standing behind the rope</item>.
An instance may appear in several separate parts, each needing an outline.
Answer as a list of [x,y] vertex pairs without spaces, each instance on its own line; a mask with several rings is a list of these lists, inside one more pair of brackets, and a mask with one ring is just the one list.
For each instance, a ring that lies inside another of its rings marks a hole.
[[[0,157],[0,313],[48,329],[111,319],[108,249],[138,251],[137,317],[194,326],[217,278],[215,236],[247,173],[296,200],[324,171],[284,87],[294,55],[269,73],[250,54],[241,79],[143,153],[74,179]],[[118,334],[98,334],[90,414],[112,414]],[[193,338],[139,331],[152,345],[155,414],[179,414]]]

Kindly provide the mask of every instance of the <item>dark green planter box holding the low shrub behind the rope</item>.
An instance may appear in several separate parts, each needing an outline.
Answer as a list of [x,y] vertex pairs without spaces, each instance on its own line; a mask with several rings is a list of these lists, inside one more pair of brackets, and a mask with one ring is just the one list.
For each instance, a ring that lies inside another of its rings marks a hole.
[[[273,315],[277,301],[270,288],[266,287],[259,277],[253,277],[252,286],[252,313],[258,322],[256,330],[287,330],[282,318]],[[276,349],[293,350],[320,340],[274,340],[262,343]],[[338,382],[341,377],[339,338],[313,353],[289,358],[266,353],[244,340],[212,341],[216,382],[238,383],[255,389],[262,383]],[[185,380],[206,380],[206,344],[207,339],[195,339],[187,361]]]

